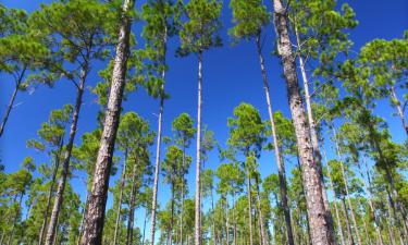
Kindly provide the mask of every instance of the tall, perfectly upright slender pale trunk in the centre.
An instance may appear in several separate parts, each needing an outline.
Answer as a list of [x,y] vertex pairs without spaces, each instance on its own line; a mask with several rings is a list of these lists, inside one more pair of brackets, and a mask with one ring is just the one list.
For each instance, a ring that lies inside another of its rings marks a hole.
[[201,105],[202,105],[202,51],[198,52],[198,105],[197,105],[197,157],[196,157],[196,204],[195,204],[195,245],[201,245]]

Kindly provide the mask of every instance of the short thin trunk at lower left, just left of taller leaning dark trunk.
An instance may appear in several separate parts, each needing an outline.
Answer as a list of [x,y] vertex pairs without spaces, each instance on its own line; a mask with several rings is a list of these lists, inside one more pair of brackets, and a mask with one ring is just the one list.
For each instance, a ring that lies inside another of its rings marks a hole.
[[48,221],[48,213],[49,213],[49,209],[50,209],[50,206],[51,206],[51,198],[52,198],[52,194],[53,194],[53,187],[54,187],[54,184],[55,184],[58,169],[60,167],[60,159],[61,159],[61,152],[62,152],[63,145],[64,145],[64,137],[62,136],[60,138],[60,145],[59,145],[58,154],[55,154],[55,157],[54,157],[54,167],[53,167],[53,171],[52,171],[51,185],[50,185],[50,189],[48,191],[47,206],[46,206],[46,210],[45,210],[44,217],[42,217],[42,224],[41,224],[41,230],[39,232],[38,244],[42,244],[42,242],[44,242],[44,235],[45,235],[45,232],[46,232],[47,221]]

